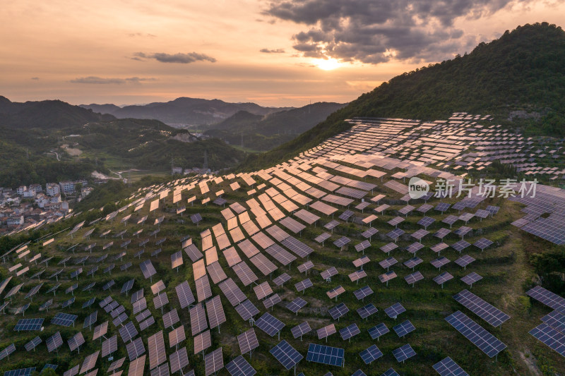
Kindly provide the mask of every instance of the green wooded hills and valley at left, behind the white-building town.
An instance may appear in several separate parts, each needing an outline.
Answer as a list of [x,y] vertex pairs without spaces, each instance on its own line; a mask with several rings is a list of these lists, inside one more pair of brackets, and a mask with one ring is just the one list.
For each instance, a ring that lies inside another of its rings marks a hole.
[[172,162],[202,167],[205,153],[212,170],[245,157],[225,142],[198,140],[156,120],[116,119],[61,101],[0,98],[0,186],[85,178],[112,169],[170,171]]

